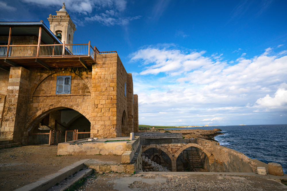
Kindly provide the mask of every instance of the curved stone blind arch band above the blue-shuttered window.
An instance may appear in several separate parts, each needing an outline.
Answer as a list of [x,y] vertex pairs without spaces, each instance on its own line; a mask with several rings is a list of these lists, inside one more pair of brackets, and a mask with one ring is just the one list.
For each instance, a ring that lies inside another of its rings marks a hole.
[[55,73],[58,73],[58,72],[61,72],[61,71],[68,71],[68,72],[72,72],[74,74],[76,74],[77,76],[79,76],[80,78],[82,78],[82,80],[84,80],[84,82],[86,83],[86,85],[88,86],[90,92],[92,91],[92,84],[90,83],[90,81],[86,78],[85,75],[79,75],[79,71],[76,70],[74,71],[75,69],[74,68],[56,68],[52,71],[49,71],[48,73],[46,74],[43,74],[43,76],[37,80],[37,82],[34,83],[34,85],[32,85],[31,87],[31,91],[30,92],[33,92],[32,95],[35,93],[37,87],[46,79],[48,78],[49,76],[55,74]]

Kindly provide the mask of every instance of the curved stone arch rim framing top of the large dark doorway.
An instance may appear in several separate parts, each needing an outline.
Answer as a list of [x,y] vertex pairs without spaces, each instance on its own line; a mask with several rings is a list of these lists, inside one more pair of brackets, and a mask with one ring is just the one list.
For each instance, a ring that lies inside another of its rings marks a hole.
[[91,127],[94,125],[94,121],[91,121],[92,118],[90,117],[90,115],[88,113],[86,113],[85,111],[82,111],[81,109],[79,109],[79,107],[73,106],[73,105],[68,104],[68,103],[55,103],[55,104],[49,105],[49,106],[41,109],[36,114],[34,114],[27,121],[25,131],[30,131],[34,127],[34,125],[38,124],[40,122],[40,120],[43,117],[45,117],[46,115],[48,115],[49,113],[51,113],[53,111],[60,110],[60,109],[65,109],[65,108],[70,108],[70,109],[73,109],[73,110],[81,113],[90,121]]

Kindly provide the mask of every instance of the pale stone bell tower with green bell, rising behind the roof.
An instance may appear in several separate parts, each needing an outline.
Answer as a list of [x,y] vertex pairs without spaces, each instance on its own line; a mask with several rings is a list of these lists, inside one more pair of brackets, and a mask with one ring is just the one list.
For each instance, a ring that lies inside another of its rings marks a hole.
[[76,29],[75,24],[70,18],[65,3],[62,9],[56,11],[57,15],[49,15],[50,30],[65,44],[73,44],[73,36]]

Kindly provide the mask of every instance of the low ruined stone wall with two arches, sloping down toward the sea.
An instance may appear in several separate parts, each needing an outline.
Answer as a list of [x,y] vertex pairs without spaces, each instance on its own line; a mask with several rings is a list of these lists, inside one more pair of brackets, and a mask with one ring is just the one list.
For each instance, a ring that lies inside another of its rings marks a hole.
[[203,165],[209,172],[257,172],[257,166],[262,166],[267,169],[267,164],[250,159],[243,153],[220,146],[215,141],[206,139],[190,138],[183,139],[183,143],[170,144],[150,144],[142,145],[142,152],[148,149],[156,148],[168,155],[171,160],[172,171],[177,171],[177,158],[183,150],[189,147],[195,147],[199,150],[203,157]]

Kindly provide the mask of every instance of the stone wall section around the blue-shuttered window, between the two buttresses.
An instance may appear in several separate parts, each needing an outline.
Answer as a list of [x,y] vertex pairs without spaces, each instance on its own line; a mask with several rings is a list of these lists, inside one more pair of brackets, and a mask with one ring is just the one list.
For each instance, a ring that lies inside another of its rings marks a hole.
[[[91,123],[93,122],[90,115],[94,108],[90,93],[91,72],[73,68],[58,68],[52,71],[31,69],[30,71],[26,132],[31,131],[34,125],[48,113],[63,108],[74,109]],[[71,76],[71,94],[56,94],[57,76]],[[54,123],[54,120],[52,121]]]

